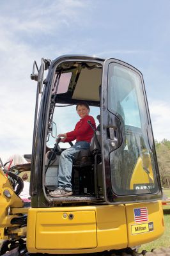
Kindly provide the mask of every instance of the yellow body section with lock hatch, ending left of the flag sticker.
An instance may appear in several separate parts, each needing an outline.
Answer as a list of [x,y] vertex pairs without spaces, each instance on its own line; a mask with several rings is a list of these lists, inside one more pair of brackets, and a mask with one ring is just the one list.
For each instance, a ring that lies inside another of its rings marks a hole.
[[[72,220],[69,219],[69,214],[73,214]],[[113,247],[127,247],[124,205],[41,208],[28,211],[28,252],[90,253],[111,250]]]

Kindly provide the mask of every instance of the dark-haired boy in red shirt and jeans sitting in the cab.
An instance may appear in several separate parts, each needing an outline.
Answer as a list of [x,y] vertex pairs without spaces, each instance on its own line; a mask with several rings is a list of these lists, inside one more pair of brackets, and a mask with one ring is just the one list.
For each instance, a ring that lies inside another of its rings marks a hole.
[[91,138],[93,137],[93,129],[88,124],[91,122],[96,128],[93,116],[89,116],[89,106],[86,102],[79,102],[76,106],[77,114],[81,120],[75,125],[75,129],[71,132],[59,134],[61,142],[71,142],[76,139],[75,145],[64,150],[59,158],[58,168],[58,189],[50,192],[50,196],[70,196],[72,195],[72,164],[79,151],[88,149]]

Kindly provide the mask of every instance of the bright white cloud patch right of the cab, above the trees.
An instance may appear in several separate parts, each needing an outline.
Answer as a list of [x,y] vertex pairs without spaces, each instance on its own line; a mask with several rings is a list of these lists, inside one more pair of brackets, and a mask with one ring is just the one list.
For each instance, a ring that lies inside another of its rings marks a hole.
[[155,140],[170,140],[170,104],[153,100],[149,104],[153,135]]

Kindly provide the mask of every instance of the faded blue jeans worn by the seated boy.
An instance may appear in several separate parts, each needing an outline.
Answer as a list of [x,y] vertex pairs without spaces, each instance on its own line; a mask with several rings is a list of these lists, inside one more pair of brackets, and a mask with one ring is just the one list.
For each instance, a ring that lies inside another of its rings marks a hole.
[[58,188],[72,191],[72,166],[73,160],[77,157],[79,151],[88,149],[89,143],[87,141],[76,142],[70,148],[67,148],[61,153],[59,157],[58,167]]

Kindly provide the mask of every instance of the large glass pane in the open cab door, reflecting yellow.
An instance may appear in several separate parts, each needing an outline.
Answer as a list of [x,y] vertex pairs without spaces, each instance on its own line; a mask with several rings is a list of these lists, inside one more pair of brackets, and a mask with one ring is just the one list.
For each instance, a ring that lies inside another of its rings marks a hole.
[[157,173],[147,129],[143,84],[137,72],[109,65],[107,108],[121,122],[123,142],[109,154],[112,190],[117,195],[154,193]]

